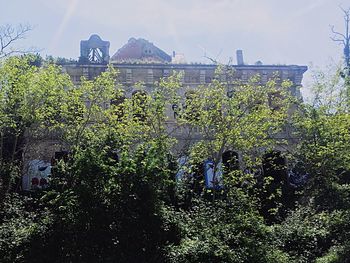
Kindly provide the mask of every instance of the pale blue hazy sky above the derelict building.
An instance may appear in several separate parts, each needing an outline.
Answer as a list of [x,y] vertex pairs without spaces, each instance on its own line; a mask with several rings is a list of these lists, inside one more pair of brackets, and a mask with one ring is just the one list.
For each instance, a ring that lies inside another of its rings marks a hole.
[[[342,47],[330,25],[344,31],[339,6],[349,0],[0,0],[0,25],[33,26],[20,45],[41,54],[77,59],[81,40],[98,34],[112,56],[129,38],[145,38],[187,62],[211,57],[254,64],[325,68],[339,63]],[[309,74],[309,75],[308,75]],[[304,84],[305,85],[305,84]]]

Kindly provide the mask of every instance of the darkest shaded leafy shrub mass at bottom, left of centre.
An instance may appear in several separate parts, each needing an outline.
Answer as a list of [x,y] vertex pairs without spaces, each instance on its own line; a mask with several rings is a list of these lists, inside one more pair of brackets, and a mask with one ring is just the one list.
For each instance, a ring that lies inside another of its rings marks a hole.
[[37,262],[163,262],[171,231],[163,228],[166,174],[157,166],[166,159],[139,150],[123,155],[116,167],[97,150],[90,143],[76,152],[55,174],[57,190],[43,196],[52,223],[35,237],[36,249],[43,251]]

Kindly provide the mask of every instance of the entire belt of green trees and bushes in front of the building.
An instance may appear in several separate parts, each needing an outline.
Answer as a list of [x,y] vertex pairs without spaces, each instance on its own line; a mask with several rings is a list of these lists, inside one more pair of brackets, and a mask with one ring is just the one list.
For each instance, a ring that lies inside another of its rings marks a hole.
[[[2,61],[0,261],[350,262],[347,82],[319,76],[309,105],[289,82],[222,74],[185,98],[176,75],[125,98],[113,68],[74,86],[38,57]],[[24,193],[23,156],[47,134],[69,156]],[[227,150],[239,160],[220,164]],[[223,183],[206,187],[205,160]]]

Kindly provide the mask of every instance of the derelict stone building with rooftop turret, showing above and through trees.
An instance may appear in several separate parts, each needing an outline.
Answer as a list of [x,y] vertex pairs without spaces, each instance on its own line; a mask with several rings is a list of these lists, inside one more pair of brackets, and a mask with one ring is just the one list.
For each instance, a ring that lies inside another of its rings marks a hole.
[[[131,97],[134,92],[138,91],[135,88],[135,83],[143,82],[145,91],[149,92],[152,90],[155,81],[168,77],[174,72],[182,73],[181,83],[185,94],[186,90],[195,89],[199,85],[210,83],[217,68],[217,64],[186,63],[182,54],[173,52],[169,55],[153,43],[142,38],[130,38],[112,56],[109,54],[109,47],[110,43],[108,41],[103,41],[98,35],[92,35],[88,40],[81,41],[79,60],[62,64],[63,71],[71,77],[75,84],[79,85],[82,76],[86,79],[93,79],[104,72],[108,64],[112,64],[113,67],[119,70],[119,83],[125,90],[125,96]],[[281,80],[291,81],[293,96],[301,98],[300,88],[303,74],[307,70],[306,66],[263,65],[261,62],[248,65],[244,63],[241,50],[237,50],[236,58],[237,63],[230,65],[234,69],[234,78],[244,83],[250,77],[259,74],[261,76],[261,84],[265,84],[269,79],[276,77],[277,74]],[[175,116],[171,112],[171,107],[168,115],[170,124],[175,125]],[[179,129],[176,135],[180,141],[181,133],[182,131]],[[24,190],[41,187],[41,181],[43,184],[47,183],[47,177],[50,174],[51,157],[55,156],[55,152],[56,156],[62,154],[57,147],[53,146],[55,144],[54,140],[42,142],[44,147],[41,147],[41,149],[45,150],[36,150],[36,155],[29,158],[33,161],[30,162],[28,172],[23,177],[22,185]],[[237,155],[235,152],[227,152],[225,154],[229,155],[229,157]],[[226,157],[223,157],[223,163]],[[237,156],[235,158],[238,159]],[[208,186],[210,186],[209,177],[210,175],[206,175]]]

